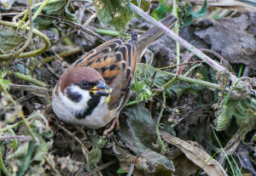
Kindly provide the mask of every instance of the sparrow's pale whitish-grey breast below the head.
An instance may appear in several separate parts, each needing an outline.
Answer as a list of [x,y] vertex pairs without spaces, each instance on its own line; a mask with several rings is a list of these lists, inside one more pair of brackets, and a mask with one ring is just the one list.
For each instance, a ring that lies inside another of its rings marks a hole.
[[[64,122],[81,125],[87,128],[102,128],[111,122],[116,111],[108,109],[106,97],[88,98],[74,102],[61,92],[52,97],[55,114]],[[65,102],[65,103],[62,103]],[[84,103],[85,102],[85,103]]]

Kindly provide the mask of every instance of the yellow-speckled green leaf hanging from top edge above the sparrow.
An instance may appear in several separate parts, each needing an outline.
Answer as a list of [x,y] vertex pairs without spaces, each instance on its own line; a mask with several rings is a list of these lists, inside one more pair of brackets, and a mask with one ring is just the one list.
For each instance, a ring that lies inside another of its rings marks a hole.
[[132,20],[133,10],[129,0],[92,0],[96,14],[103,26],[110,26],[116,31],[124,31]]

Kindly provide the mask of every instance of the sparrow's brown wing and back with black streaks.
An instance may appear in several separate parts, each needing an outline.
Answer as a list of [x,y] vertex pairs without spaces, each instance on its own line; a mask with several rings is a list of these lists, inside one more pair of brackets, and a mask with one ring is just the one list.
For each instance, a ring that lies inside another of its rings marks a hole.
[[131,40],[128,43],[121,37],[116,37],[81,56],[67,71],[82,66],[90,66],[98,71],[112,88],[108,103],[109,109],[112,110],[125,105],[125,100],[122,99],[127,98],[136,65],[137,32],[131,32]]

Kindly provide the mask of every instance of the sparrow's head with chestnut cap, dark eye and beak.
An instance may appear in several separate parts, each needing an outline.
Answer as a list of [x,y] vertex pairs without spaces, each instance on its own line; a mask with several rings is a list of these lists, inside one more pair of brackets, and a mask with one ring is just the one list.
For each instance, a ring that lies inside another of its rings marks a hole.
[[111,88],[98,71],[90,67],[78,67],[62,75],[60,91],[66,94],[68,99],[78,103],[88,96],[108,96]]

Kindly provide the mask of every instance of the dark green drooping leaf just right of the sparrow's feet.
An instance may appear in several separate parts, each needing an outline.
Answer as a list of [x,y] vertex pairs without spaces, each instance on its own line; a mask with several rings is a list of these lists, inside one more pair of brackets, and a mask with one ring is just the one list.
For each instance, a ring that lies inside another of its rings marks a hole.
[[121,111],[121,116],[119,136],[126,146],[135,154],[152,147],[152,142],[156,141],[156,128],[148,109],[130,105]]

